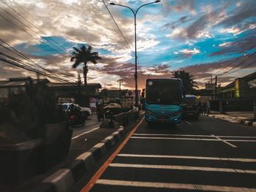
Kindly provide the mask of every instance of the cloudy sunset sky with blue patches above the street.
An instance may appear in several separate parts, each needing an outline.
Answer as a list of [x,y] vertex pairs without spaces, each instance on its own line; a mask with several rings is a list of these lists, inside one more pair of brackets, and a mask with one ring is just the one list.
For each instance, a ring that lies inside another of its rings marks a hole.
[[[88,82],[111,88],[122,80],[123,88],[133,88],[133,15],[110,2],[137,9],[151,1],[105,0],[129,46],[102,0],[0,0],[0,58],[9,55],[75,82],[82,68],[71,67],[72,47],[92,45],[102,60],[89,64]],[[211,74],[226,85],[255,72],[255,0],[162,0],[140,9],[137,26],[139,88],[148,74],[171,77],[177,69],[191,72],[200,87]],[[11,52],[9,45],[31,61]],[[0,64],[0,80],[34,76],[4,61]]]

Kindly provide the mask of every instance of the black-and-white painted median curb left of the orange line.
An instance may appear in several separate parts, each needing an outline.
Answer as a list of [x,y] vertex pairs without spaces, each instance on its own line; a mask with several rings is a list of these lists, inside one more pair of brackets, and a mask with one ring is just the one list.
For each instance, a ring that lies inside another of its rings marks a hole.
[[123,126],[103,139],[89,151],[79,155],[64,169],[59,169],[40,183],[36,190],[40,192],[66,192],[88,172],[102,156],[126,135]]

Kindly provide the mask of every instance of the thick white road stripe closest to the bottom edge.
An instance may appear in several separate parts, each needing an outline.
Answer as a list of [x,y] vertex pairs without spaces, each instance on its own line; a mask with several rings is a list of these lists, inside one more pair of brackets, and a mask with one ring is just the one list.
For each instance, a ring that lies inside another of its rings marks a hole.
[[217,186],[217,185],[197,185],[186,183],[156,183],[156,182],[138,182],[129,180],[97,180],[100,185],[118,185],[140,188],[168,188],[168,189],[183,189],[183,190],[196,190],[196,191],[222,191],[222,192],[255,192],[256,188],[237,188],[230,186]]

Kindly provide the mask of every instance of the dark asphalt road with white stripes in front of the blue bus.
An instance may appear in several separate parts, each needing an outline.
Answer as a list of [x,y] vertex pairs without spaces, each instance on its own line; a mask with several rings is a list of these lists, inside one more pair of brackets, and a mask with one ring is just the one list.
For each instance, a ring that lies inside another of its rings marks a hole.
[[91,191],[256,191],[256,129],[208,117],[176,128],[143,121],[108,162]]

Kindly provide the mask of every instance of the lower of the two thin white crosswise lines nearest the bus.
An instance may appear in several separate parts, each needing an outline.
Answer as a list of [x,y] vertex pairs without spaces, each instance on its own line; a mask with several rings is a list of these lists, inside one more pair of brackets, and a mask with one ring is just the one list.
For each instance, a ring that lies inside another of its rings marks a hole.
[[[195,141],[213,141],[222,142],[219,139],[201,139],[201,138],[179,138],[179,137],[131,137],[131,139],[167,139],[167,140],[195,140]],[[256,142],[256,140],[238,140],[238,139],[226,139],[227,142]]]

